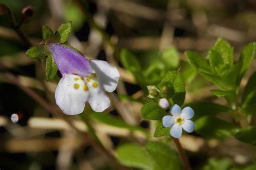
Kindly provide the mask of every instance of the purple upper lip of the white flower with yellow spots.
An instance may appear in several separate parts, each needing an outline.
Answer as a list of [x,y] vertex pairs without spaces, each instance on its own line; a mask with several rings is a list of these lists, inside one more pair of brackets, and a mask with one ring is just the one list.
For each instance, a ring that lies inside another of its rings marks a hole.
[[73,49],[56,42],[49,44],[48,49],[53,55],[60,73],[77,74],[82,77],[92,73],[93,70],[89,60],[85,59],[82,54],[79,54]]

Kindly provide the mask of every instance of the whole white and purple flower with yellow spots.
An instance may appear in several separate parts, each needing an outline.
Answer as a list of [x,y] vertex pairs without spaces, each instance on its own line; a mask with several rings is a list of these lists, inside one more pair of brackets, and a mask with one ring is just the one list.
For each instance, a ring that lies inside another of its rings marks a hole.
[[49,44],[48,49],[62,74],[55,99],[64,114],[80,114],[86,102],[96,112],[110,107],[104,90],[112,92],[116,89],[120,77],[116,68],[106,61],[87,60],[82,54],[56,42]]

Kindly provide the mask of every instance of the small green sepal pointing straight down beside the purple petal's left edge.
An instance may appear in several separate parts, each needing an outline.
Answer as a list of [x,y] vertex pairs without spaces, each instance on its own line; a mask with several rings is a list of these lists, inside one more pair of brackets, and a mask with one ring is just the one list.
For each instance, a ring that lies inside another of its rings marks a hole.
[[58,67],[53,59],[53,56],[50,54],[46,59],[45,63],[45,77],[46,81],[51,80],[57,73]]

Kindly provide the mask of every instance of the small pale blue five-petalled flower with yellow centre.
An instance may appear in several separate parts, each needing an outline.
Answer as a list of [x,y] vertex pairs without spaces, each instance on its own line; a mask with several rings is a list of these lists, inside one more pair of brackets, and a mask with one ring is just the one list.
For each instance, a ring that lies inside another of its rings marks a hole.
[[179,105],[174,104],[171,108],[171,115],[163,117],[163,125],[165,128],[171,128],[170,134],[174,138],[180,138],[182,129],[191,133],[194,131],[194,122],[190,119],[194,116],[194,110],[190,107],[185,107],[181,110]]

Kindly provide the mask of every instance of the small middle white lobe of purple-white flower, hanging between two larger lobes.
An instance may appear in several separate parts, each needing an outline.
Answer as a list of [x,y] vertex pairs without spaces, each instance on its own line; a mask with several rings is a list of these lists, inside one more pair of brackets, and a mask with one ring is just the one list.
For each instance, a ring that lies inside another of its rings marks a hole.
[[[97,86],[96,84],[93,86],[93,83],[96,83]],[[92,110],[96,112],[103,112],[105,109],[109,108],[109,97],[104,94],[99,82],[92,79],[90,82],[87,82],[87,85],[91,95],[89,104],[91,105]]]

